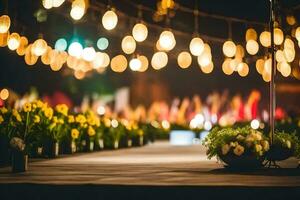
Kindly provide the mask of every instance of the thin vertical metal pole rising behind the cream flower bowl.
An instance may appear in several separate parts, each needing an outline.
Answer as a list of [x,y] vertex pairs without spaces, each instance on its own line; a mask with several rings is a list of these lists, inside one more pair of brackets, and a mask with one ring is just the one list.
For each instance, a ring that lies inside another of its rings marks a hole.
[[275,22],[275,0],[270,0],[270,32],[271,32],[271,81],[270,81],[270,143],[273,144],[275,132],[275,74],[276,74],[276,60],[275,60],[275,45],[274,45],[274,22]]

